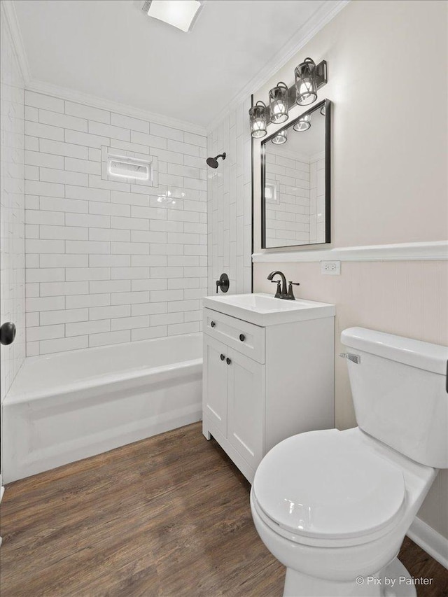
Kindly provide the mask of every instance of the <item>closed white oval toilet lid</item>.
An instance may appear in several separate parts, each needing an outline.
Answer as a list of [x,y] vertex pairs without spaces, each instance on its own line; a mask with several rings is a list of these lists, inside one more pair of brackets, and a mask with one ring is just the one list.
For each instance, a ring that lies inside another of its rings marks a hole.
[[322,539],[378,531],[405,505],[400,469],[337,429],[277,444],[255,472],[253,493],[283,529]]

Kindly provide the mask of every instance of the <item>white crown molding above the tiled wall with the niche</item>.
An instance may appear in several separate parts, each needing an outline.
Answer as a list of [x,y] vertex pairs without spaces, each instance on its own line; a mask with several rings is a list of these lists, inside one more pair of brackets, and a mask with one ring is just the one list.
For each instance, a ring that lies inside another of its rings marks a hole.
[[25,87],[29,91],[52,95],[53,97],[59,97],[59,99],[74,101],[76,104],[85,104],[87,106],[93,106],[94,108],[100,108],[101,110],[116,112],[132,118],[139,118],[140,120],[149,120],[158,125],[165,125],[165,127],[181,129],[202,136],[207,134],[205,127],[195,125],[193,122],[185,122],[184,120],[178,120],[177,118],[170,118],[169,116],[164,116],[155,112],[134,108],[127,104],[119,104],[117,101],[104,99],[103,97],[97,97],[96,95],[90,95],[73,89],[67,89],[66,87],[59,87],[59,85],[52,85],[52,83],[44,83],[43,81],[31,79]]

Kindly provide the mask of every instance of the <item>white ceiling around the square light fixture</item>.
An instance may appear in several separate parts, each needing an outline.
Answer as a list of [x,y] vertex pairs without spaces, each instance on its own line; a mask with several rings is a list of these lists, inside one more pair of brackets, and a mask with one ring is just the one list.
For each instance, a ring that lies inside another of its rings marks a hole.
[[[15,0],[31,78],[207,126],[325,0],[208,0],[185,34],[142,0]],[[324,6],[325,5],[325,6]]]

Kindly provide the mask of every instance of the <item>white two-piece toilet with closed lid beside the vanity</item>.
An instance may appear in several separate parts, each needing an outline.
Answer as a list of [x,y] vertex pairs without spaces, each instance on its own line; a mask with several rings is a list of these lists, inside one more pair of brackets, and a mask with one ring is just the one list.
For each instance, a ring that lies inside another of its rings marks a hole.
[[448,348],[349,328],[358,427],[288,437],[251,489],[255,528],[286,566],[285,597],[415,596],[397,558],[448,468]]

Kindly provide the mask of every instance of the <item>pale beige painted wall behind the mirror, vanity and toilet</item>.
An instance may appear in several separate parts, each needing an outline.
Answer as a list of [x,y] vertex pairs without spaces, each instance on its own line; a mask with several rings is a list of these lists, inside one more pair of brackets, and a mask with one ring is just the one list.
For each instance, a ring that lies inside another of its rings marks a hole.
[[[328,61],[318,99],[332,101],[332,246],[448,238],[447,8],[431,0],[354,0],[255,94],[265,99],[278,80],[292,83],[307,56]],[[255,162],[255,182],[259,168]],[[254,192],[258,251],[259,186]],[[299,297],[336,304],[336,354],[350,325],[448,344],[446,261],[344,262],[341,276],[322,276],[318,262],[279,258],[254,264],[255,291],[272,292],[266,276],[273,269],[300,281]],[[346,365],[336,358],[335,368],[336,423],[347,428],[356,421]],[[443,471],[419,516],[445,537],[447,499]]]

